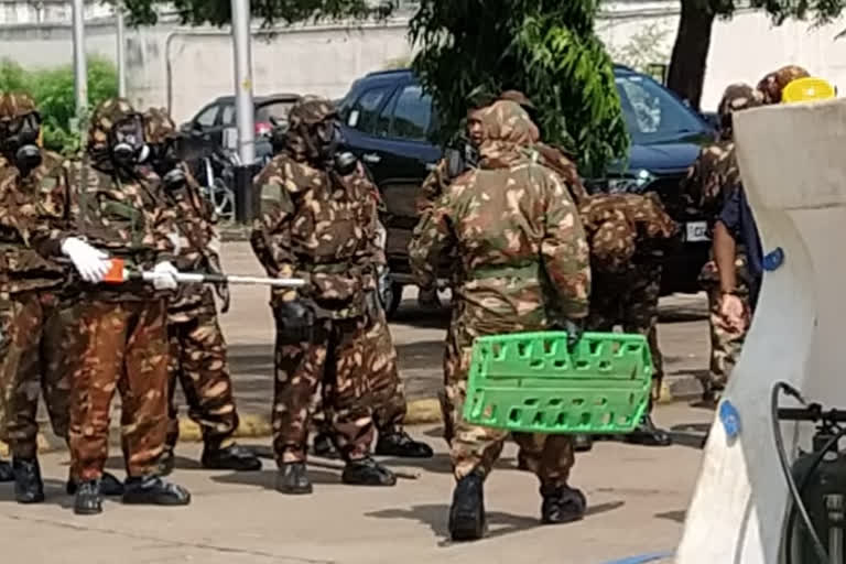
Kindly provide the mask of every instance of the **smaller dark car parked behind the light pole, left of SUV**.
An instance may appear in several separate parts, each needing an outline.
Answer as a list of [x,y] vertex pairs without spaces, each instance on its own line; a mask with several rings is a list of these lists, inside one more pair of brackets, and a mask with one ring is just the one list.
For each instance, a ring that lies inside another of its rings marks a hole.
[[[278,123],[288,121],[288,111],[300,99],[296,94],[274,94],[256,96],[256,156],[262,160],[272,152],[269,135]],[[191,120],[184,123],[183,132],[202,133],[213,143],[224,145],[224,131],[237,126],[235,117],[235,96],[221,96],[203,107]]]

